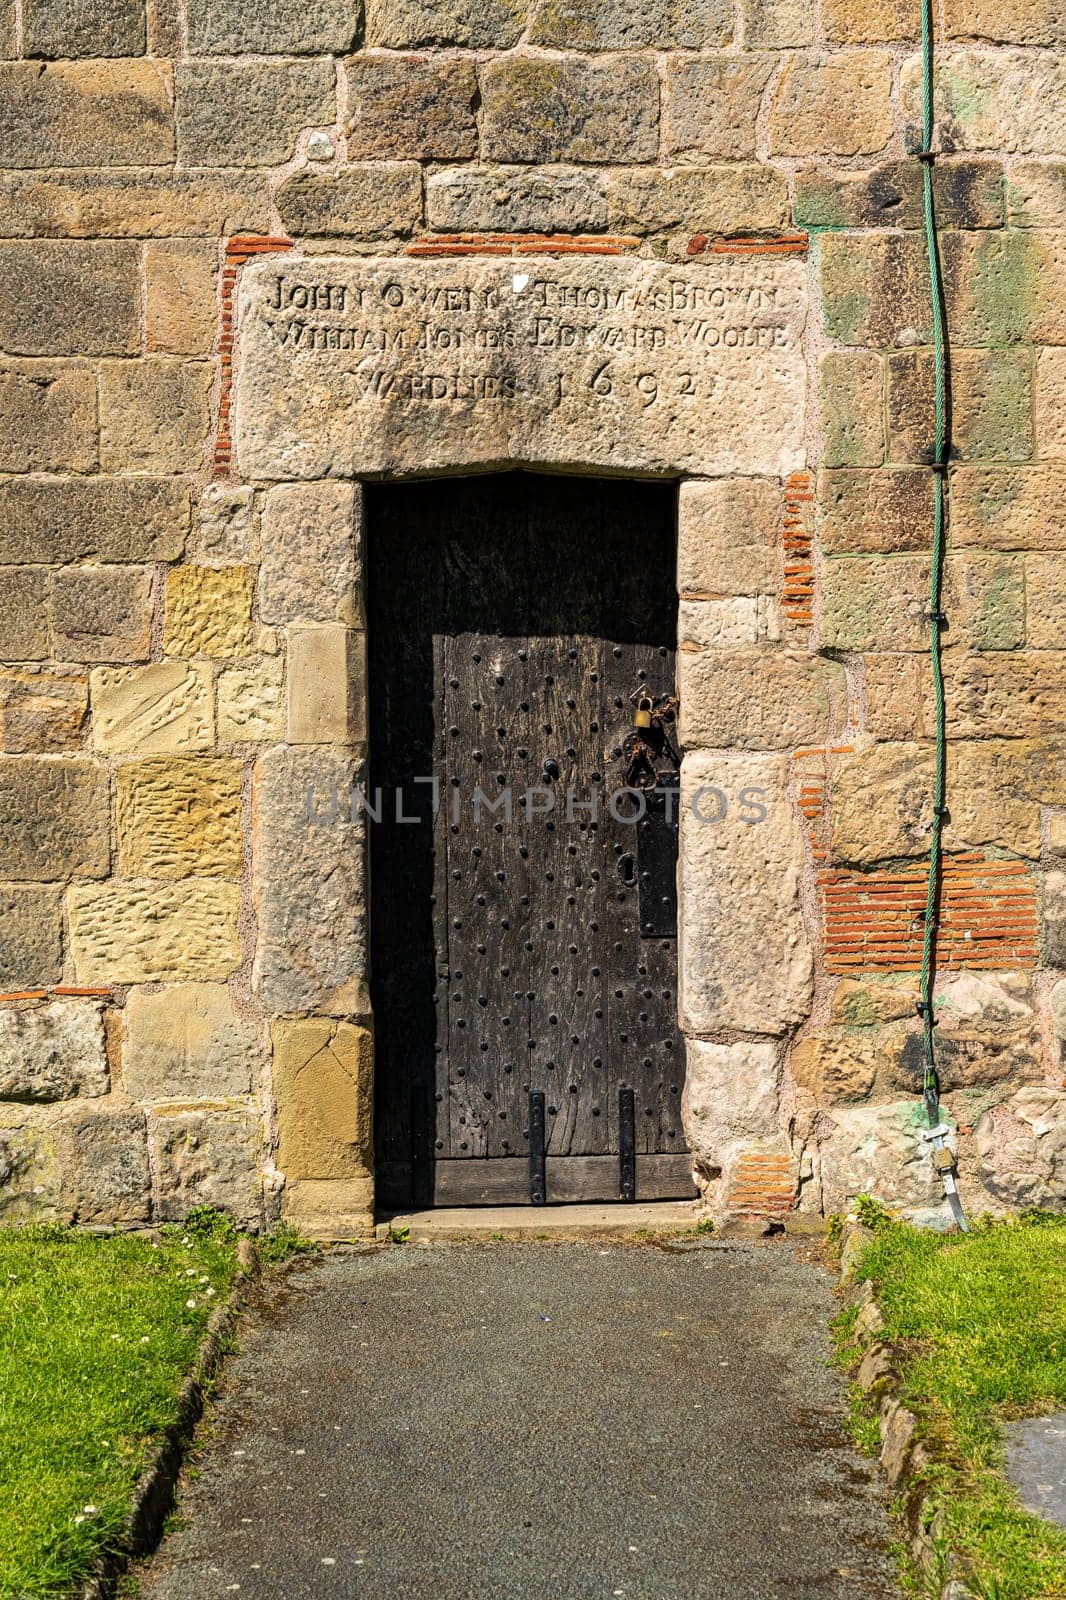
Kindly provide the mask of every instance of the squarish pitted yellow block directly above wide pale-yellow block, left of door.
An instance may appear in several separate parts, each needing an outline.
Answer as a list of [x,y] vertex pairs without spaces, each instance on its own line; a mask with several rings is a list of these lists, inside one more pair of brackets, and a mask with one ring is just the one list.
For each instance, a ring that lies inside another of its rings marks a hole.
[[115,774],[115,832],[126,878],[238,878],[240,762],[128,762]]

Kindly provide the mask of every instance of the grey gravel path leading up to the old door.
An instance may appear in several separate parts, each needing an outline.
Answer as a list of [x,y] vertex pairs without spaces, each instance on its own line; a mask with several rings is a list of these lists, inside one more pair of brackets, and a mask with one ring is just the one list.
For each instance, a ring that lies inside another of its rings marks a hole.
[[787,1243],[394,1246],[261,1286],[144,1600],[896,1600]]

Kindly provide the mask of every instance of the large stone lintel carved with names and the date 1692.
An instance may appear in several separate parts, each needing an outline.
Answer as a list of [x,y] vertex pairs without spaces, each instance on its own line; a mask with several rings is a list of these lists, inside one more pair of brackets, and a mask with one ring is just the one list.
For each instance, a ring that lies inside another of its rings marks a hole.
[[805,267],[288,258],[245,269],[248,478],[804,464]]

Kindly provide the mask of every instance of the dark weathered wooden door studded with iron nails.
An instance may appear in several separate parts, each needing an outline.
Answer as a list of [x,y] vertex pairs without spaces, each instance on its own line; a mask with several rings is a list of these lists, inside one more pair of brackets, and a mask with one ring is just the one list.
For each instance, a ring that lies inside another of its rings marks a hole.
[[631,696],[674,688],[674,528],[663,485],[368,490],[386,1208],[693,1192],[675,928],[640,925],[675,843],[615,794]]

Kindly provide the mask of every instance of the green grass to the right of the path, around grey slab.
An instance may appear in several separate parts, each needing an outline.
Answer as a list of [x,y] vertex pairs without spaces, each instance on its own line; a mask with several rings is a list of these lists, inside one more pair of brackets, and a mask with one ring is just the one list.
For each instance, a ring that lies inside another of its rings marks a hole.
[[[904,1400],[936,1446],[944,1539],[983,1600],[1066,1595],[1066,1531],[1023,1510],[1000,1422],[1066,1408],[1066,1218],[943,1237],[877,1218],[861,1274],[877,1286]],[[847,1342],[853,1314],[837,1320]],[[874,1424],[876,1427],[876,1424]],[[853,1408],[861,1448],[868,1408]]]

